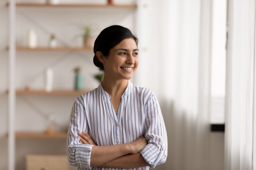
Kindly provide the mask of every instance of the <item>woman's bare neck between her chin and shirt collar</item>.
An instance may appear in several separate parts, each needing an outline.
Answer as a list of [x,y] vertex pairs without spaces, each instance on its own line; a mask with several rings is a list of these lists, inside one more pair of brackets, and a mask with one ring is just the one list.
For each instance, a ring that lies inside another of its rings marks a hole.
[[103,78],[101,82],[103,89],[112,97],[120,97],[125,92],[128,86],[128,80],[116,80],[113,81],[108,78]]

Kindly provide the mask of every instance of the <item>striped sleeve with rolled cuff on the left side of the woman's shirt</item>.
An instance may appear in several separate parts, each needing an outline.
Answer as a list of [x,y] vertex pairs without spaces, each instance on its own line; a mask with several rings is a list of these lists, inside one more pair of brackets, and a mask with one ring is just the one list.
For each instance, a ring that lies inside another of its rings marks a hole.
[[80,144],[78,132],[87,131],[86,110],[83,104],[83,96],[76,99],[73,104],[69,119],[67,134],[68,161],[79,169],[90,169],[90,157],[93,145]]

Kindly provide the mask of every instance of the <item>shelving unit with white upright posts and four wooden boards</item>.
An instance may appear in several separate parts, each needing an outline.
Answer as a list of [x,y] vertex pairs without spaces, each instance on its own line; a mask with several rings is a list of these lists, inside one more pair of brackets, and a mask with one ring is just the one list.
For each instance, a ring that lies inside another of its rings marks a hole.
[[[75,91],[68,89],[54,89],[51,92],[46,92],[42,89],[15,89],[16,79],[16,52],[92,52],[93,49],[89,47],[71,47],[71,46],[58,46],[56,48],[49,48],[47,46],[38,46],[36,48],[29,48],[27,46],[16,46],[16,8],[101,8],[101,9],[136,9],[137,20],[141,20],[141,13],[138,9],[142,8],[141,0],[137,0],[136,4],[125,5],[108,5],[108,4],[73,4],[73,3],[60,3],[58,5],[51,5],[48,3],[16,3],[15,0],[9,0],[7,3],[9,8],[9,20],[10,20],[10,32],[9,32],[9,146],[8,146],[8,170],[15,170],[15,140],[16,139],[65,139],[66,133],[54,133],[54,135],[46,134],[44,132],[18,132],[15,130],[15,118],[16,118],[16,95],[80,95],[90,90]],[[141,26],[139,22],[135,22],[135,28],[137,35],[140,34],[138,29]],[[34,58],[34,57],[33,57]]]

